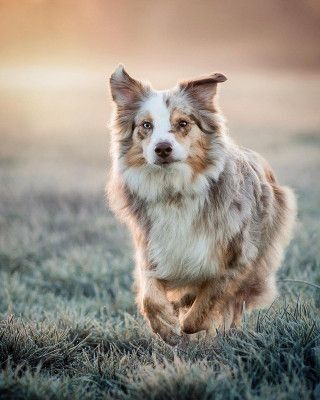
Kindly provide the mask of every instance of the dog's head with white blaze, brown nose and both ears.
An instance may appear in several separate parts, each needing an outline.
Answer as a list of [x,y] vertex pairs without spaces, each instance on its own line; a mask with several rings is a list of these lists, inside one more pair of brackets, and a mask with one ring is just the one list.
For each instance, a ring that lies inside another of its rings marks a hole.
[[110,86],[126,166],[170,169],[180,163],[195,173],[205,169],[213,138],[219,135],[216,87],[225,80],[224,75],[213,74],[155,91],[118,67]]

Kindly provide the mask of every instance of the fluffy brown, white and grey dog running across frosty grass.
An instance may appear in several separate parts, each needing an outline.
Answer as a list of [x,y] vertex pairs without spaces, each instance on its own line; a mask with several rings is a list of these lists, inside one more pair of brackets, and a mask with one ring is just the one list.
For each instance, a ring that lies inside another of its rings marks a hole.
[[156,91],[123,66],[110,79],[109,203],[133,236],[138,307],[169,343],[270,304],[295,220],[292,191],[227,134],[215,101],[225,80]]

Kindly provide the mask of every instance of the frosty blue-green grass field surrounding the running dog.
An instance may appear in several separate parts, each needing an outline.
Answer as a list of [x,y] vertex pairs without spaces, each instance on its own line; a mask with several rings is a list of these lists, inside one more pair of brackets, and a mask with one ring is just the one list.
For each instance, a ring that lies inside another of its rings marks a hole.
[[[91,132],[88,115],[74,131],[21,114],[2,122],[1,399],[320,399],[320,290],[311,285],[320,285],[320,87],[298,82],[297,103],[291,83],[270,79],[224,98],[233,136],[298,196],[280,296],[246,315],[241,331],[177,348],[136,311],[129,236],[104,199],[107,130]],[[92,96],[104,104],[99,90]],[[260,117],[244,117],[248,107]]]

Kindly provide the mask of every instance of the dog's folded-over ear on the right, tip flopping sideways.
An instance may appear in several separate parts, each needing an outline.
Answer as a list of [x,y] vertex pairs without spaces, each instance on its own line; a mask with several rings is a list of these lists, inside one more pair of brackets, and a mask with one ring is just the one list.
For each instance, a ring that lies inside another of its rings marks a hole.
[[217,84],[225,82],[227,78],[223,74],[214,73],[198,79],[180,82],[180,90],[187,93],[206,107],[212,107],[214,96],[217,92]]

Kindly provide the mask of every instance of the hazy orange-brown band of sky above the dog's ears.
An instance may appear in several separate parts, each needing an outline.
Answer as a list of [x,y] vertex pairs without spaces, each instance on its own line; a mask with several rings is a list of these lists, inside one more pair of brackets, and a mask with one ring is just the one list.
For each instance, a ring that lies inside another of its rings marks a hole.
[[2,0],[3,66],[320,66],[317,0]]

